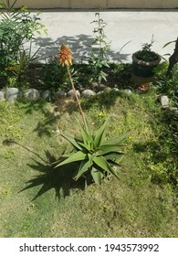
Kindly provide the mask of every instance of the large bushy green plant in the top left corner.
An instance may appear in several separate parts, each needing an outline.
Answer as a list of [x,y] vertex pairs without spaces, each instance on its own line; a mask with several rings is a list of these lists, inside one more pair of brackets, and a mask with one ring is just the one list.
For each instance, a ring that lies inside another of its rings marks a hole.
[[[39,13],[32,16],[25,6],[14,9],[16,2],[17,0],[13,4],[10,4],[10,1],[0,3],[1,79],[6,79],[9,76],[19,78],[29,63],[37,58],[37,52],[32,54],[31,51],[35,34],[40,34],[41,29],[47,33],[44,26],[39,23]],[[27,44],[29,45],[28,48]]]

